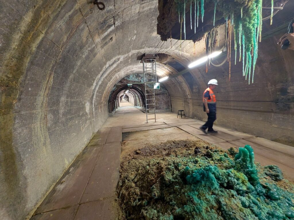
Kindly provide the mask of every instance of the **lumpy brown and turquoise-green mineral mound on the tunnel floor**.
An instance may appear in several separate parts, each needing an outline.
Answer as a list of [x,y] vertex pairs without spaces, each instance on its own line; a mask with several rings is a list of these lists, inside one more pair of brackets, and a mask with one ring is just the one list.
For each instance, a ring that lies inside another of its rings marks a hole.
[[249,145],[167,141],[122,158],[120,173],[120,219],[294,219],[294,185],[254,163]]

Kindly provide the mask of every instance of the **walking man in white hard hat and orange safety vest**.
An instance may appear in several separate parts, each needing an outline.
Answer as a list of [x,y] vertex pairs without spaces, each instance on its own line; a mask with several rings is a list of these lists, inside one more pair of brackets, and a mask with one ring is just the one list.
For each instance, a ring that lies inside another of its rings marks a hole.
[[[216,79],[211,79],[208,82],[208,88],[203,92],[203,111],[207,113],[208,119],[204,125],[200,127],[200,130],[205,134],[207,133],[218,133],[213,130],[213,122],[216,120],[216,95],[213,92],[213,89],[218,85]],[[206,129],[208,131],[206,132]]]

